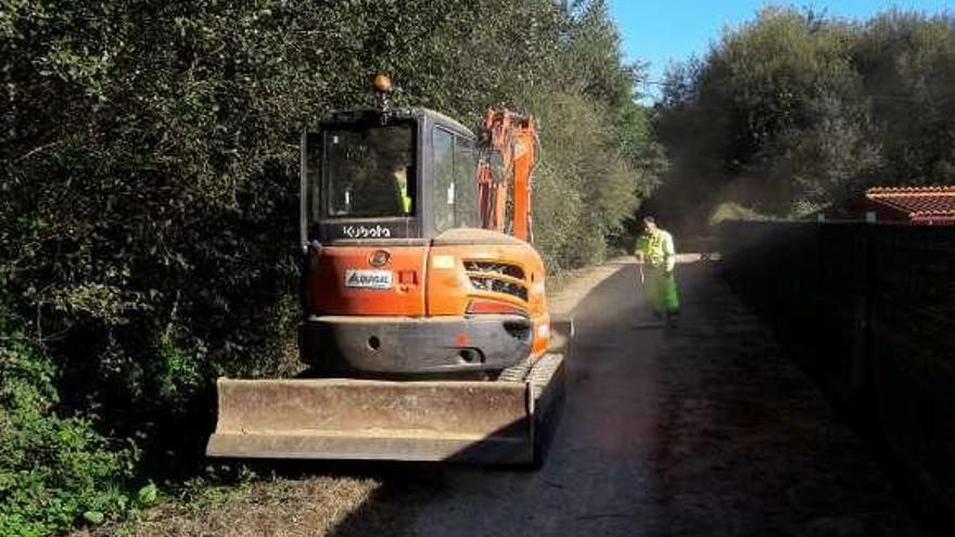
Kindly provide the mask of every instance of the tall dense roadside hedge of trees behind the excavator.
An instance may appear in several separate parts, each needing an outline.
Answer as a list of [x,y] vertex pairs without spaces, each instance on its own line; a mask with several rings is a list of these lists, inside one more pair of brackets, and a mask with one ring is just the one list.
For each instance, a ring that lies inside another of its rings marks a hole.
[[123,516],[199,468],[217,375],[297,367],[298,132],[375,72],[542,117],[552,269],[600,259],[659,155],[602,1],[0,0],[0,533]]

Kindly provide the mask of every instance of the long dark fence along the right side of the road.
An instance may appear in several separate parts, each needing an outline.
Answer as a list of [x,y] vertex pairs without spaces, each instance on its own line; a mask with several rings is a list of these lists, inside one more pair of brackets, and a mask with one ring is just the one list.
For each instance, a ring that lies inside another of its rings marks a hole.
[[733,287],[916,498],[955,512],[955,228],[729,222]]

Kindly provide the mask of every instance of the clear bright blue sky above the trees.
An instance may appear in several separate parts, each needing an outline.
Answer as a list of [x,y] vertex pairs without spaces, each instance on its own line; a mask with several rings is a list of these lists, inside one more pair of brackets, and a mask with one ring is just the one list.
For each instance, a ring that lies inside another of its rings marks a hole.
[[[723,28],[753,18],[767,3],[811,7],[845,18],[866,18],[892,5],[929,13],[955,7],[955,0],[610,0],[610,10],[620,27],[626,59],[650,62],[648,78],[660,80],[671,61],[704,55]],[[648,86],[644,91],[653,93],[657,89]]]

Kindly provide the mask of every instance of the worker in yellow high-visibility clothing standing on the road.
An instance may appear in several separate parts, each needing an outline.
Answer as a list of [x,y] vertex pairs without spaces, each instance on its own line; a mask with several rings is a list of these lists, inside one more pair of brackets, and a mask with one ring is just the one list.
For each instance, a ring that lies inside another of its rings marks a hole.
[[637,239],[634,252],[640,269],[644,299],[653,317],[666,318],[676,324],[679,316],[679,296],[673,269],[676,267],[676,248],[673,235],[657,227],[652,216],[644,218],[644,232]]

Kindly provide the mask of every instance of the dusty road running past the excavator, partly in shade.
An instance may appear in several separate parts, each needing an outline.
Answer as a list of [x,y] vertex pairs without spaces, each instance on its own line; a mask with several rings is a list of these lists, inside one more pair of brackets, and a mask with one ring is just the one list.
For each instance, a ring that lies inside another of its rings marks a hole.
[[542,471],[389,470],[333,533],[920,535],[714,267],[680,265],[676,330],[642,322],[622,261],[557,301],[606,278],[575,308],[566,405]]

